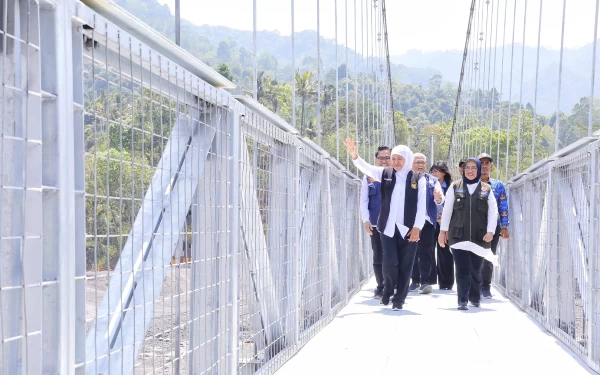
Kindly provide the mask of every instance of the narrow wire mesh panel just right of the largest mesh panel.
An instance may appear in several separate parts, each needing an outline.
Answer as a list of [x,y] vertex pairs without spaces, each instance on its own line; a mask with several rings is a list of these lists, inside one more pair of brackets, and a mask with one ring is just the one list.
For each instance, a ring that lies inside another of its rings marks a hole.
[[296,156],[291,135],[259,116],[245,117],[241,151],[240,371],[253,373],[279,354],[286,343],[295,341],[295,283],[299,277]]

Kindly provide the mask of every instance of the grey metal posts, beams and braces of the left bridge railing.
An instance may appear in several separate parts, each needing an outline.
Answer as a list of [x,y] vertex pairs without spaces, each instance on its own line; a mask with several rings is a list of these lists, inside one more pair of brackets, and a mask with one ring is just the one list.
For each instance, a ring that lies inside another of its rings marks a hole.
[[[274,372],[369,280],[368,241],[355,235],[354,244],[346,236],[362,227],[357,208],[348,206],[357,198],[357,176],[257,102],[218,89],[231,87],[230,82],[110,1],[39,2],[38,31],[41,48],[38,60],[29,62],[27,98],[30,113],[41,114],[30,119],[31,130],[39,128],[41,142],[29,145],[23,155],[14,151],[4,158],[3,164],[10,165],[3,171],[18,169],[20,157],[27,160],[26,168],[39,164],[24,170],[27,186],[39,182],[37,190],[26,192],[25,230],[39,233],[26,236],[23,249],[28,256],[32,249],[41,251],[44,263],[11,259],[23,267],[26,279],[22,300],[14,306],[26,307],[28,331],[19,339],[29,354],[19,362],[3,344],[2,370],[137,371],[159,297],[165,299],[165,278],[172,274],[177,286],[167,296],[174,301],[169,327],[174,360],[169,369],[242,372],[240,301],[247,296],[241,295],[241,284],[250,277],[255,281],[255,322],[260,321],[253,328],[255,337],[266,338],[265,347],[280,347],[257,358],[252,372]],[[91,319],[86,318],[86,241],[92,235],[86,233],[86,198],[93,193],[86,191],[86,61],[104,64],[106,72],[119,69],[120,77],[141,90],[168,87],[153,94],[177,103],[176,120],[169,125],[151,182],[137,201],[131,231],[128,236],[118,233],[126,240],[118,249],[118,263],[107,271],[97,318]],[[34,133],[28,136],[35,139]],[[253,164],[245,137],[260,137],[272,157],[285,159],[271,163],[268,171],[275,178],[269,185],[273,205],[268,208],[266,235],[259,225],[260,213],[248,214],[258,207],[257,171],[248,168]],[[303,174],[303,165],[311,165],[312,174]],[[207,170],[218,171],[219,181],[210,181],[215,175]],[[35,175],[38,172],[41,176]],[[333,176],[341,191],[332,191]],[[204,189],[209,182],[210,188]],[[215,209],[207,212],[210,204]],[[189,291],[182,291],[184,265],[179,255],[188,241],[188,225],[190,280]],[[274,251],[282,246],[290,251]],[[218,260],[216,265],[207,268],[213,260]],[[9,264],[6,259],[1,263]],[[243,266],[250,266],[250,275],[241,274]],[[35,281],[41,276],[43,281]],[[17,310],[8,314],[5,305],[2,309],[3,322],[17,319]],[[191,315],[187,321],[184,312]]]

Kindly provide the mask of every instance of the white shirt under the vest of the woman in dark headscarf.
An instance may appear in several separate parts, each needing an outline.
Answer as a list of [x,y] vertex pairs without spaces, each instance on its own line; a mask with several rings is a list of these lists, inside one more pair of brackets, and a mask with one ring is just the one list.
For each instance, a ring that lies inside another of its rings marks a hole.
[[[466,184],[467,189],[469,189],[469,194],[473,194],[477,186],[481,184],[481,182],[477,184]],[[452,219],[452,211],[454,210],[454,184],[451,184],[446,192],[446,204],[444,206],[444,211],[442,212],[442,222],[440,223],[440,230],[447,231],[450,227],[450,219]],[[494,233],[496,231],[496,225],[498,221],[498,204],[496,203],[496,198],[494,197],[494,192],[490,190],[488,194],[488,226],[487,231]],[[483,248],[476,243],[471,241],[462,241],[457,244],[452,245],[453,249],[459,250],[468,250],[480,257],[485,258],[486,260],[492,262],[494,266],[498,265],[498,258],[492,253],[491,249]]]

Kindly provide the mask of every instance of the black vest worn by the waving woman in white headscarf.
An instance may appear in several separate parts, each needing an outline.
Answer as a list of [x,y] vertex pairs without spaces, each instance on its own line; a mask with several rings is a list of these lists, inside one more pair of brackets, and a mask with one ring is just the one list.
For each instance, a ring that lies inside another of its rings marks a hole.
[[[417,201],[419,200],[419,179],[422,173],[408,172],[406,176],[406,188],[404,194],[404,226],[412,229],[417,216]],[[392,193],[396,186],[396,171],[393,167],[386,167],[381,175],[381,211],[377,220],[377,229],[383,233],[390,216],[392,204]],[[394,212],[394,215],[396,213]],[[394,220],[396,217],[394,216]]]

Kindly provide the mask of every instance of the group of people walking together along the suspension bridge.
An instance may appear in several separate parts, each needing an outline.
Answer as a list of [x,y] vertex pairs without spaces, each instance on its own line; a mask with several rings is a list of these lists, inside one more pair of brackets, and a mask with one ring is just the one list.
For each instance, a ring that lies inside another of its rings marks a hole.
[[427,172],[426,156],[407,146],[379,147],[371,165],[354,140],[344,144],[365,174],[360,207],[373,248],[374,298],[401,310],[409,292],[430,294],[436,284],[452,290],[455,275],[459,310],[492,298],[496,248],[509,236],[508,200],[504,184],[490,177],[492,157],[461,160],[453,181],[445,162]]

